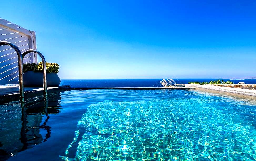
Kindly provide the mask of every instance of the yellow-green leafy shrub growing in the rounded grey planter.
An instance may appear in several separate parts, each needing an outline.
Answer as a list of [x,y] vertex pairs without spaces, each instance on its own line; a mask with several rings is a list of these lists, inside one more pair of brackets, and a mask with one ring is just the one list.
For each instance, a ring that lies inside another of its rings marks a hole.
[[[43,62],[38,63],[27,63],[23,64],[23,72],[34,71],[39,72],[43,71]],[[57,63],[48,63],[46,62],[46,73],[58,73],[59,72],[59,64]]]

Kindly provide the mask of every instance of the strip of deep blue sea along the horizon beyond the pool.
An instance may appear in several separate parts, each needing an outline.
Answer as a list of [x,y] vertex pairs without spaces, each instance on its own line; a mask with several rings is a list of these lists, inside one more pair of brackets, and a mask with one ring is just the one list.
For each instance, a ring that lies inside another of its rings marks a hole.
[[[79,87],[162,87],[162,79],[62,79],[60,85],[70,85],[74,88]],[[209,82],[216,79],[174,79],[179,84],[186,84],[189,81]],[[222,79],[224,81],[230,79]],[[256,83],[256,79],[236,79],[230,80],[234,83]]]

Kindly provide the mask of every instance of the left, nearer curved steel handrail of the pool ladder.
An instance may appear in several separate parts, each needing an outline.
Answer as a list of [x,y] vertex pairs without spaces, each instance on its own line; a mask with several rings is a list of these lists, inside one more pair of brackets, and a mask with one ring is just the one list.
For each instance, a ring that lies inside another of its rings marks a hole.
[[8,41],[0,41],[0,46],[1,45],[8,45],[10,47],[12,47],[18,56],[18,69],[19,69],[19,97],[23,98],[24,97],[24,88],[23,88],[23,58],[22,58],[22,54],[21,51],[19,50],[19,48],[14,45],[11,42]]

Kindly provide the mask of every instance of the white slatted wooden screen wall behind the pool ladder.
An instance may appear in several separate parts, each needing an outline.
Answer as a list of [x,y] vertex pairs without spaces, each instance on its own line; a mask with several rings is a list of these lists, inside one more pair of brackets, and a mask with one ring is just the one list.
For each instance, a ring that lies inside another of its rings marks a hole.
[[[36,50],[34,31],[26,30],[2,18],[0,18],[0,41],[15,44],[21,53],[28,49]],[[36,53],[27,54],[23,59],[23,64],[25,63],[37,63]],[[17,53],[10,46],[0,46],[0,85],[18,84],[18,73]]]

